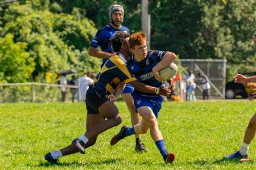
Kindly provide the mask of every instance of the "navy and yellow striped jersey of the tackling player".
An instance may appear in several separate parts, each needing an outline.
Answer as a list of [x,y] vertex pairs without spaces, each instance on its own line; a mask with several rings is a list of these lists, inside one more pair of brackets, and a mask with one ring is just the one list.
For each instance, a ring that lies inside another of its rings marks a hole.
[[119,82],[129,83],[134,80],[137,79],[126,67],[125,58],[121,53],[117,53],[105,62],[92,86],[98,95],[105,96],[112,94]]

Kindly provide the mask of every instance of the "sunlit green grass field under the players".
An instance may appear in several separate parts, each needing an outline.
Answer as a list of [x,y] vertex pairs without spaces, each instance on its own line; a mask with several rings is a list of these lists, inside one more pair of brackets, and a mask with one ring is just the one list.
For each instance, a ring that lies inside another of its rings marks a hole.
[[[222,160],[239,149],[246,126],[256,110],[255,101],[163,103],[158,118],[168,151],[176,155],[164,164],[150,134],[142,142],[148,152],[134,151],[135,138],[115,146],[109,141],[118,127],[102,133],[86,154],[60,158],[48,164],[44,154],[71,143],[85,132],[86,111],[82,103],[1,104],[1,169],[255,169],[255,140],[250,145],[250,162]],[[117,103],[122,125],[130,125],[125,103]]]

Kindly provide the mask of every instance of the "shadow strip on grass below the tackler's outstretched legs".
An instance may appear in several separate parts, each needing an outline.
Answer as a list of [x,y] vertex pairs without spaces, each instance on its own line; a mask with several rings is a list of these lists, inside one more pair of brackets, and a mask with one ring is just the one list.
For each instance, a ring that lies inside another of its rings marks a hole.
[[121,162],[121,159],[106,159],[106,160],[99,160],[96,162],[85,162],[85,163],[81,163],[81,162],[77,162],[77,161],[73,161],[73,162],[57,162],[55,164],[53,163],[46,163],[46,162],[40,162],[38,167],[52,167],[52,166],[56,166],[56,167],[80,167],[80,166],[92,166],[92,165],[101,165],[101,164],[114,164],[117,162]]

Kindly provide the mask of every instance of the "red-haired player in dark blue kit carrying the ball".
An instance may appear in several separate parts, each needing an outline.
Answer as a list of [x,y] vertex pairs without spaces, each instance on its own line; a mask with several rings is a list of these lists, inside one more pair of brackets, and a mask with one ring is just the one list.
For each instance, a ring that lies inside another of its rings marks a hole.
[[[129,45],[133,56],[128,59],[127,67],[140,82],[153,87],[162,87],[164,79],[159,75],[158,71],[170,65],[176,55],[171,52],[147,50],[146,36],[143,32],[131,35]],[[170,82],[170,84],[172,83]],[[115,145],[119,140],[129,135],[145,134],[150,129],[151,138],[158,147],[164,161],[172,163],[175,155],[172,152],[168,154],[156,120],[162,107],[162,96],[138,90],[135,90],[131,95],[137,112],[142,116],[142,121],[131,128],[126,125],[122,126],[119,133],[114,135],[110,141],[110,145]]]

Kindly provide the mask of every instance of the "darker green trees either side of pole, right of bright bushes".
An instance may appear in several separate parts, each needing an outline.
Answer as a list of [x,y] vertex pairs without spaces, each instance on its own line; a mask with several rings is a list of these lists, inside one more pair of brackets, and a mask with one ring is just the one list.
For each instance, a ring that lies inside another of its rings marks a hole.
[[[123,25],[141,30],[141,1],[54,1],[65,12],[85,9],[97,28],[109,23],[108,7],[125,8]],[[256,48],[251,36],[256,25],[256,2],[249,1],[148,1],[151,15],[151,48],[170,50],[180,58],[228,59],[228,76],[255,70]],[[253,63],[253,64],[252,64]],[[229,74],[230,73],[230,74]]]

